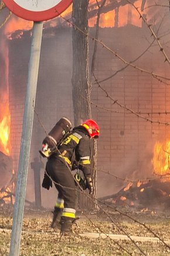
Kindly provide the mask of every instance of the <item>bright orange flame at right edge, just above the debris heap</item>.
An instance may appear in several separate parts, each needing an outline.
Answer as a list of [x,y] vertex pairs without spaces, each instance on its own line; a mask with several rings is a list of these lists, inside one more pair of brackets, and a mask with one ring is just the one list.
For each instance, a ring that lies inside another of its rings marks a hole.
[[166,175],[170,172],[170,141],[155,143],[152,164],[155,174]]

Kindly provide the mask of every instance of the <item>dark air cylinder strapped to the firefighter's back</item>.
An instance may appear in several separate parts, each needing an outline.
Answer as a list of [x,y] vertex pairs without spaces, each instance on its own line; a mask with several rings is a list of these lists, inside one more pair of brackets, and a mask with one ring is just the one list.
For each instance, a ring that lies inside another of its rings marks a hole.
[[43,139],[42,149],[39,151],[42,157],[49,157],[62,142],[62,139],[72,129],[72,122],[66,117],[62,117]]

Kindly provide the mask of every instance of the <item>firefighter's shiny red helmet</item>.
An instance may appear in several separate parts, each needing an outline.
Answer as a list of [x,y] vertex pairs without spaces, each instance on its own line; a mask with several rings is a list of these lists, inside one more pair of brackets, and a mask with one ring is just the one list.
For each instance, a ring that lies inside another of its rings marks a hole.
[[91,138],[94,138],[94,139],[98,138],[100,131],[97,123],[94,120],[87,119],[81,125],[87,129]]

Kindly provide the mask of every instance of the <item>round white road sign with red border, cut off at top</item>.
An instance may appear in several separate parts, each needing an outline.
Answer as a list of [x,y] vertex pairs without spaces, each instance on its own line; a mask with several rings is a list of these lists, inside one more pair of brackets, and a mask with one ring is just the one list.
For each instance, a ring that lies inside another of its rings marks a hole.
[[3,0],[13,14],[28,21],[47,21],[62,14],[73,0]]

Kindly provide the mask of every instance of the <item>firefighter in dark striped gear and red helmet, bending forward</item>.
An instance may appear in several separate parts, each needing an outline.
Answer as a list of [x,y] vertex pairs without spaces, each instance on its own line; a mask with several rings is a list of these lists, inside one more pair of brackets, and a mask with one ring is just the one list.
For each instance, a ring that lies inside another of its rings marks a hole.
[[[59,151],[50,155],[46,164],[47,175],[54,181],[58,191],[57,202],[53,211],[52,228],[60,228],[60,235],[70,235],[76,214],[76,182],[72,172],[74,161],[79,162],[83,171],[89,194],[93,192],[93,182],[90,173],[90,139],[97,139],[99,128],[93,119],[87,119],[59,145]],[[68,168],[69,167],[69,168]],[[44,178],[42,186],[49,189],[52,184],[48,177]],[[50,185],[48,185],[50,183]]]

